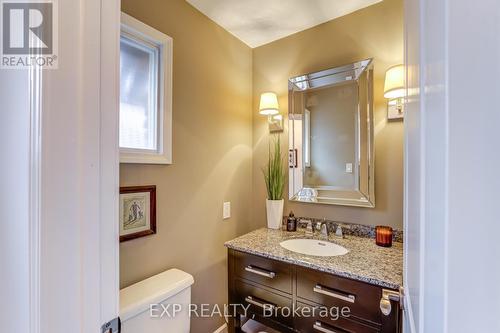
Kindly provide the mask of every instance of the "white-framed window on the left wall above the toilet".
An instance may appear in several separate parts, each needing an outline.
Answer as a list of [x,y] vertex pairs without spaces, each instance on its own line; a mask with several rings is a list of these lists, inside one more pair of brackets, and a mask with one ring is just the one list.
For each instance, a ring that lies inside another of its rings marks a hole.
[[172,163],[172,39],[122,13],[120,162]]

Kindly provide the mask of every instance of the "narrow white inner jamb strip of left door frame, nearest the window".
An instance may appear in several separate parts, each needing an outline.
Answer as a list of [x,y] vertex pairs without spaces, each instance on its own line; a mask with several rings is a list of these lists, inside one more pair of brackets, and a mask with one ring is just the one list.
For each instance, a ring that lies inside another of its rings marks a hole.
[[[100,192],[101,192],[101,322],[119,314],[120,154],[120,0],[101,0],[100,54]],[[110,222],[111,221],[111,222]]]

